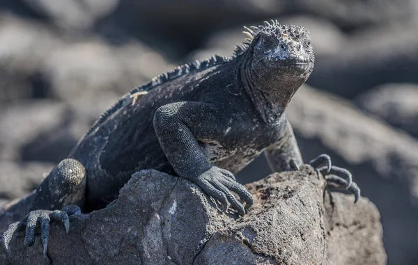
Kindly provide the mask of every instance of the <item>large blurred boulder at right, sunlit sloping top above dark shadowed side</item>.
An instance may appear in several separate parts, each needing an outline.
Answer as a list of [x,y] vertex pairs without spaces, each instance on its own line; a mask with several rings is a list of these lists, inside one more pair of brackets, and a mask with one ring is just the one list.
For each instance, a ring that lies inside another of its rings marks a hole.
[[327,153],[378,207],[389,264],[415,264],[418,141],[350,102],[302,86],[288,108],[304,159]]

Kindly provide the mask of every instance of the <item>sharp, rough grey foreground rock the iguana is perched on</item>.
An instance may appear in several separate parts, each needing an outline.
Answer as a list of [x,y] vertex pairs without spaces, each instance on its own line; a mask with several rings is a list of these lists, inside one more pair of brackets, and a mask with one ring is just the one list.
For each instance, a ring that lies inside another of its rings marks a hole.
[[69,234],[52,225],[47,258],[39,239],[25,248],[21,233],[0,263],[385,264],[376,207],[337,193],[324,206],[325,181],[311,167],[247,188],[255,204],[239,218],[185,179],[143,170],[105,209],[70,218]]

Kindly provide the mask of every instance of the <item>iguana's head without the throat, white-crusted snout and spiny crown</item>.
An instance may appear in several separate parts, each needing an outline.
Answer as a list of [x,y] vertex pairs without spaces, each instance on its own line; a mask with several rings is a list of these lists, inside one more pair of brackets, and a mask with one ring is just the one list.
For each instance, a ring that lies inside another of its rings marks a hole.
[[245,27],[248,51],[254,70],[300,76],[304,81],[314,69],[314,50],[309,31],[302,26],[281,25],[276,21],[264,26]]

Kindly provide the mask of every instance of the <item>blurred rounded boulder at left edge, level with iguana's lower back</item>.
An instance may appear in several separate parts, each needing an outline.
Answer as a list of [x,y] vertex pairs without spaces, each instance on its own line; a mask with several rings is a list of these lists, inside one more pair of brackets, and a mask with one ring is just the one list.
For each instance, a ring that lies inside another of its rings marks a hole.
[[0,108],[0,159],[52,161],[65,158],[88,125],[77,129],[70,108],[50,99]]

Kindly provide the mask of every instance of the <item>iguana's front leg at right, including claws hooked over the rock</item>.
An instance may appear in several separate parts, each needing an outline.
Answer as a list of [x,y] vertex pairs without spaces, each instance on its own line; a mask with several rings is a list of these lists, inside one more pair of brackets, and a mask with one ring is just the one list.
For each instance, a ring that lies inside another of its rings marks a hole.
[[[289,122],[286,122],[286,128],[280,140],[265,150],[265,156],[270,168],[275,172],[299,170],[303,164],[303,159]],[[345,168],[332,166],[330,156],[327,154],[320,154],[316,159],[310,161],[309,164],[321,172],[330,188],[350,191],[350,193],[355,195],[355,202],[357,202],[360,196],[360,189],[353,182],[350,171]]]

